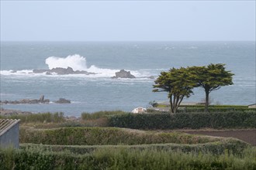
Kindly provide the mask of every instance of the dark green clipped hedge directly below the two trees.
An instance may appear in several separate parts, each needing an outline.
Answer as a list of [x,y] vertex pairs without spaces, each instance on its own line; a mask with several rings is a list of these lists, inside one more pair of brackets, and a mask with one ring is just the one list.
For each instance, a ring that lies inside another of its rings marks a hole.
[[256,128],[256,112],[123,114],[109,117],[109,126],[133,129]]

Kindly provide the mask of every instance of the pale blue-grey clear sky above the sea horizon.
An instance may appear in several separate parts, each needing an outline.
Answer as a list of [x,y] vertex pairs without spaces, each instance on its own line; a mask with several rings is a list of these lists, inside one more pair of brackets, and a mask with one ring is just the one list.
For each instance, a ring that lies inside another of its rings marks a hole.
[[255,1],[1,0],[1,41],[255,41]]

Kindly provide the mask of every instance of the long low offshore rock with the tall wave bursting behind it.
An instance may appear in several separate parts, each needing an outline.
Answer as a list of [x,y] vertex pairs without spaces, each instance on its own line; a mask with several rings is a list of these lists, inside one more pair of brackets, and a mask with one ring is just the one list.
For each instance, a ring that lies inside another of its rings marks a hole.
[[85,74],[85,75],[89,75],[89,74],[95,74],[95,73],[87,72],[85,70],[81,70],[81,71],[76,70],[76,71],[74,71],[69,66],[67,67],[67,69],[57,67],[57,68],[50,69],[50,70],[33,70],[33,73],[46,73],[47,75],[52,75],[53,73],[57,73],[58,75],[66,75],[66,74]]

